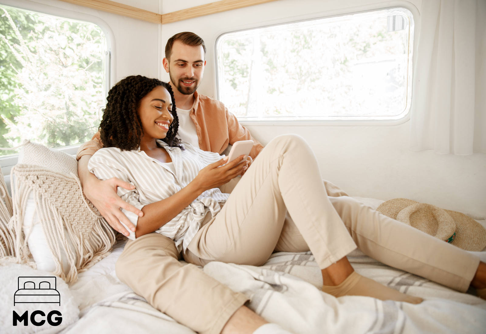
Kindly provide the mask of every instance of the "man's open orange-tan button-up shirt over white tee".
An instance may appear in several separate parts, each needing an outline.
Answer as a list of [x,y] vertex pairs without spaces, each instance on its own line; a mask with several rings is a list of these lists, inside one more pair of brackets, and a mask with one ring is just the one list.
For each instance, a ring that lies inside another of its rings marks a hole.
[[[233,145],[236,141],[250,139],[254,142],[250,151],[253,159],[263,149],[263,145],[253,138],[250,132],[238,122],[236,116],[231,114],[218,100],[194,92],[194,104],[190,116],[196,125],[201,150],[221,154],[226,150],[228,144]],[[91,140],[81,145],[76,158],[79,160],[85,154],[93,155],[102,147],[100,133],[97,132]]]

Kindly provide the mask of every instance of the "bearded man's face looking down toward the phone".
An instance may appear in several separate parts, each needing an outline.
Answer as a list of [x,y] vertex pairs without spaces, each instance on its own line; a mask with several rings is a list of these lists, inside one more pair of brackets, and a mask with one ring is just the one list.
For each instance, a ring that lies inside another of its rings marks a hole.
[[192,47],[175,41],[170,59],[163,61],[166,72],[177,90],[184,95],[193,94],[203,78],[204,49],[202,46]]

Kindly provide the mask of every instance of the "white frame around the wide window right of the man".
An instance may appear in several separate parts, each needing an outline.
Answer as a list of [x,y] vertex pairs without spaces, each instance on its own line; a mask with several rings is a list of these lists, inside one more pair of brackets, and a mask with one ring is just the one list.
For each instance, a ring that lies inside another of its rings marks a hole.
[[[410,45],[410,48],[412,50],[412,57],[411,57],[411,66],[410,66],[410,91],[408,94],[410,94],[410,98],[407,98],[407,105],[405,107],[405,110],[407,112],[403,115],[403,117],[396,118],[396,119],[258,119],[258,120],[252,120],[252,119],[239,119],[240,123],[244,126],[395,126],[399,125],[402,123],[407,122],[410,119],[410,113],[411,113],[411,106],[412,106],[412,100],[413,100],[413,87],[414,87],[414,64],[417,62],[417,43],[418,43],[418,33],[419,33],[419,12],[417,10],[417,7],[411,2],[408,1],[393,1],[391,4],[387,2],[386,4],[389,4],[388,6],[383,6],[383,4],[380,3],[375,3],[373,5],[364,5],[360,7],[354,7],[354,8],[343,8],[339,11],[332,11],[331,13],[312,13],[312,17],[304,17],[304,18],[297,18],[297,19],[291,19],[291,20],[278,20],[278,22],[273,21],[272,23],[265,24],[266,22],[260,22],[260,24],[256,25],[250,25],[247,27],[244,27],[243,29],[235,29],[235,30],[228,30],[224,31],[218,34],[216,41],[214,43],[214,62],[215,62],[215,67],[214,67],[214,77],[215,77],[215,91],[216,91],[216,98],[220,100],[220,90],[219,90],[219,83],[220,83],[220,78],[218,75],[218,42],[220,38],[227,34],[227,33],[238,33],[238,32],[243,32],[243,31],[248,31],[248,30],[253,30],[253,29],[259,29],[259,28],[267,28],[267,27],[274,27],[274,26],[279,26],[279,25],[285,25],[285,24],[292,24],[292,23],[298,23],[298,22],[305,22],[305,21],[312,21],[312,20],[318,20],[318,19],[325,19],[325,18],[331,18],[331,17],[340,17],[340,16],[346,16],[346,15],[354,15],[354,14],[361,14],[361,13],[370,13],[370,12],[375,12],[375,11],[380,11],[380,10],[386,10],[386,9],[397,9],[397,8],[402,8],[408,10],[412,18],[414,20],[413,23],[413,45]],[[317,14],[317,15],[316,15]],[[268,22],[268,21],[267,21]],[[224,101],[223,101],[224,102]],[[230,110],[231,111],[231,110]]]

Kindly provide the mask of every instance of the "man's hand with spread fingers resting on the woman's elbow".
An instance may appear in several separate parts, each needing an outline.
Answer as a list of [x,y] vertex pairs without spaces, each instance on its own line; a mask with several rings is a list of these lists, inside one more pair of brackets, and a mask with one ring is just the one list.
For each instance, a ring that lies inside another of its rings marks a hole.
[[117,195],[117,187],[122,187],[127,190],[134,189],[132,184],[117,178],[100,181],[94,176],[94,178],[87,178],[83,186],[83,192],[112,228],[128,236],[130,233],[120,222],[123,222],[133,232],[135,232],[135,225],[121,212],[120,208],[131,211],[139,217],[142,217],[143,213],[135,206],[122,200]]

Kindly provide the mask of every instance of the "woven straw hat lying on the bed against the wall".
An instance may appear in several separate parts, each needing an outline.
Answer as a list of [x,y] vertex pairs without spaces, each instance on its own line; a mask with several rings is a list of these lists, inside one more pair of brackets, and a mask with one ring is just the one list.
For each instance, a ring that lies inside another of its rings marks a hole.
[[463,250],[486,247],[485,228],[460,212],[402,198],[384,201],[376,210]]

